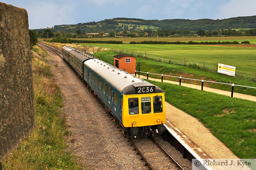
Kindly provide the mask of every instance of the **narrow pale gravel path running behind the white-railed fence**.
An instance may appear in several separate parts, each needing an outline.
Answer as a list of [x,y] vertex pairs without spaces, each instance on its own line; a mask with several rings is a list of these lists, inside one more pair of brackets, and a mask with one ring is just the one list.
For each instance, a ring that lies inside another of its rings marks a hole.
[[[138,75],[136,75],[136,76],[138,76]],[[140,78],[145,78],[146,79],[147,77],[143,76],[143,75],[140,75]],[[153,81],[158,81],[158,82],[162,81],[161,79],[158,79],[158,78],[148,77],[148,79],[153,80]],[[179,82],[176,82],[176,81],[163,80],[163,82],[179,85]],[[201,86],[195,85],[195,84],[189,84],[189,83],[181,82],[181,86],[201,90]],[[222,94],[222,95],[226,95],[226,96],[231,96],[231,92],[225,91],[225,90],[219,90],[219,89],[209,88],[209,87],[205,87],[205,86],[204,86],[203,90],[207,91],[207,92],[212,92],[212,93]],[[245,100],[251,100],[251,101],[256,102],[256,96],[252,96],[252,95],[241,94],[241,93],[233,93],[233,97],[240,98],[240,99],[245,99]]]

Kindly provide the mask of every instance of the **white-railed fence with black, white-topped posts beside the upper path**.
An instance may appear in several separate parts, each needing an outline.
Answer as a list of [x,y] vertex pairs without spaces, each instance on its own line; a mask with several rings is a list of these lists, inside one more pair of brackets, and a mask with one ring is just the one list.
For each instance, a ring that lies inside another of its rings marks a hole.
[[246,87],[246,88],[254,88],[256,89],[256,87],[250,87],[250,86],[242,86],[242,85],[238,85],[238,84],[230,84],[230,83],[222,83],[222,82],[214,82],[214,81],[208,81],[208,80],[198,80],[198,79],[193,79],[193,78],[185,78],[185,77],[181,77],[181,76],[170,76],[170,75],[163,75],[163,74],[157,74],[157,73],[149,73],[149,72],[143,72],[143,71],[137,71],[135,70],[135,76],[137,74],[137,72],[139,73],[146,73],[147,74],[147,80],[148,80],[148,75],[152,74],[152,75],[160,75],[162,82],[163,82],[163,77],[164,76],[168,76],[168,77],[176,77],[179,78],[179,85],[181,86],[181,79],[188,79],[188,80],[195,80],[195,81],[201,81],[201,90],[203,90],[203,86],[204,86],[204,82],[211,82],[211,83],[218,83],[218,84],[227,84],[227,85],[232,85],[232,89],[231,89],[231,97],[233,97],[233,93],[234,93],[234,86],[240,86],[240,87]]

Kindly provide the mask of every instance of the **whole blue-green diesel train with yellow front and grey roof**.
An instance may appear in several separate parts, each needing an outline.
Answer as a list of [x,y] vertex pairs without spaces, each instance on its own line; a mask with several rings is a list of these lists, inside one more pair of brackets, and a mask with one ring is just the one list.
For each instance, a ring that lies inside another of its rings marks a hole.
[[159,87],[70,46],[62,48],[62,56],[124,134],[140,137],[166,131],[165,98]]

